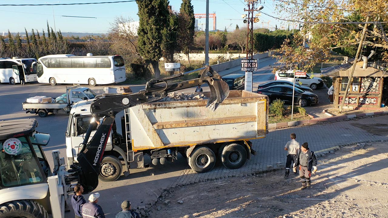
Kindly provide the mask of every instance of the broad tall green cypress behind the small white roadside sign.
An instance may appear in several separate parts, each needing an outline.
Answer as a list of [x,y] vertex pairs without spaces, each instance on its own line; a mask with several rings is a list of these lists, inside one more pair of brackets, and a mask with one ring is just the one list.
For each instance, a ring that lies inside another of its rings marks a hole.
[[154,69],[155,77],[160,77],[159,59],[162,57],[162,41],[160,37],[168,27],[168,0],[143,0],[138,5],[139,29],[138,48],[140,55],[149,61]]

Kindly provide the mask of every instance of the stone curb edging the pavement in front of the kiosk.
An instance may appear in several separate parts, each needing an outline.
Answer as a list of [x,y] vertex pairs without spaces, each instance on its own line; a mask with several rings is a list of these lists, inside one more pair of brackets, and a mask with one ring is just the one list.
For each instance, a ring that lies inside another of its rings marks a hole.
[[[341,115],[341,116],[331,116],[328,118],[314,118],[314,119],[305,119],[299,121],[289,121],[284,123],[268,123],[268,129],[279,129],[293,126],[305,126],[312,125],[316,123],[326,123],[326,122],[335,122],[335,121],[344,121],[354,118],[365,118],[367,116],[379,116],[388,114],[388,111],[376,111],[376,112],[366,112],[362,114],[351,114],[351,115]],[[308,114],[311,116],[310,114]]]

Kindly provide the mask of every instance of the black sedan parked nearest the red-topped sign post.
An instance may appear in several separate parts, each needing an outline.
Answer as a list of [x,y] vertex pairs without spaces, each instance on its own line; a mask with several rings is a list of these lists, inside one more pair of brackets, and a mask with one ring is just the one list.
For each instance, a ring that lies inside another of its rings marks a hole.
[[[280,99],[284,103],[291,104],[293,87],[290,85],[274,85],[258,90],[259,94],[267,95],[268,101]],[[318,95],[312,92],[305,92],[300,88],[295,87],[294,104],[299,104],[301,107],[306,107],[310,104],[318,104]]]

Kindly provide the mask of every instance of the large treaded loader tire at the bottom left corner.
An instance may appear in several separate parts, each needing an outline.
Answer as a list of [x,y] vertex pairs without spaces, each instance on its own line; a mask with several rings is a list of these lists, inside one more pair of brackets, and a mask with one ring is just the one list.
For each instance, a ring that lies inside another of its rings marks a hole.
[[49,213],[36,201],[18,200],[0,204],[0,217],[49,218]]

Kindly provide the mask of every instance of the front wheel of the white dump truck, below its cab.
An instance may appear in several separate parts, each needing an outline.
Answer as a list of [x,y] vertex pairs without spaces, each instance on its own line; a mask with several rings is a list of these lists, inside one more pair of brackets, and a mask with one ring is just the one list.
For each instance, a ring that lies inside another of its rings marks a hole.
[[103,182],[116,181],[123,171],[121,161],[112,155],[105,156],[100,165],[98,178]]

